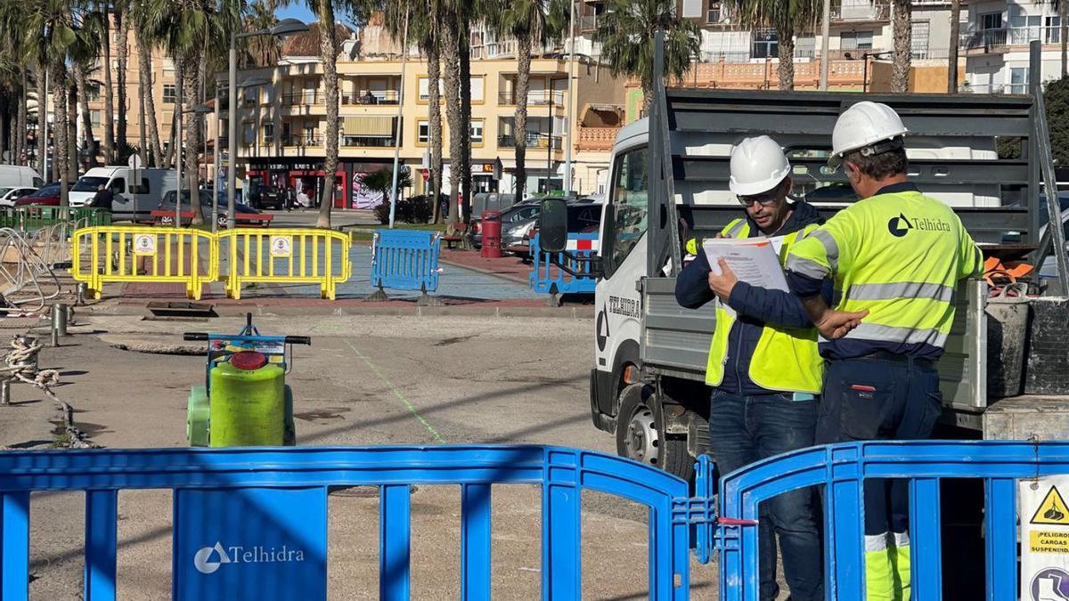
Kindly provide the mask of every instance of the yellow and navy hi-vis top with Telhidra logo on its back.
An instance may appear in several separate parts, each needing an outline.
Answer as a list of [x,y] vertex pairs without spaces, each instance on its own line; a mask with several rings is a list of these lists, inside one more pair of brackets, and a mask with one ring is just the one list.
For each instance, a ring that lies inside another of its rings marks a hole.
[[983,265],[961,219],[916,190],[877,195],[839,211],[791,249],[787,267],[834,276],[836,309],[868,315],[842,340],[946,344],[958,280]]

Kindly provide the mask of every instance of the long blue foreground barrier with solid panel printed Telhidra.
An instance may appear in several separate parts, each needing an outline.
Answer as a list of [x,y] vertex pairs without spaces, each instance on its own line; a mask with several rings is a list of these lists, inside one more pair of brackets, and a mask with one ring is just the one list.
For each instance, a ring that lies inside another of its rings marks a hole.
[[0,595],[27,599],[31,492],[86,492],[84,599],[100,601],[115,598],[118,492],[172,489],[173,599],[326,599],[327,488],[377,486],[379,598],[408,599],[412,484],[461,487],[462,599],[490,599],[495,484],[542,486],[542,599],[582,598],[584,490],[649,508],[650,599],[688,598],[687,483],[541,446],[4,451]]

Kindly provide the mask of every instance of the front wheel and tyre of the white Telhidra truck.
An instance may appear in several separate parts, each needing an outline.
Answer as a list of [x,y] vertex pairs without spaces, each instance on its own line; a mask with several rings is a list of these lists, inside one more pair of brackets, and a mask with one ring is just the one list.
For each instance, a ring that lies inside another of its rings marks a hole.
[[664,433],[661,403],[653,388],[645,384],[632,384],[620,392],[616,452],[687,481],[694,478],[694,460],[686,451],[686,438]]

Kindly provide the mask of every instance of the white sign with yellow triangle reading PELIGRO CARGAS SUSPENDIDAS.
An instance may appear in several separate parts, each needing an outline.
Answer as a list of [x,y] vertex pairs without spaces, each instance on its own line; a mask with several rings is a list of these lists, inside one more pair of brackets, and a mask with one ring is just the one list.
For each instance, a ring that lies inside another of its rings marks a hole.
[[1022,601],[1069,599],[1069,507],[1063,492],[1069,493],[1069,476],[1018,482]]

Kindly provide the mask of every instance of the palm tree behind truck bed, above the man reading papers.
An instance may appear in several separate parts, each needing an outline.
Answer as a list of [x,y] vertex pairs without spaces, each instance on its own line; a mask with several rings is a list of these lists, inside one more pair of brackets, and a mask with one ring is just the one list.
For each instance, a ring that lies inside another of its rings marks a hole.
[[773,28],[779,48],[779,89],[794,89],[794,36],[814,22],[819,0],[730,0],[732,14],[747,29]]

